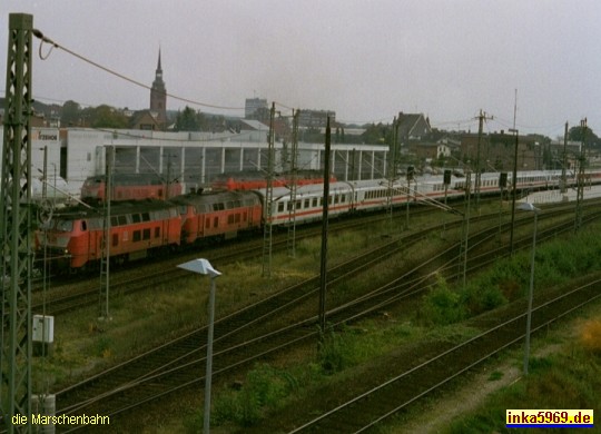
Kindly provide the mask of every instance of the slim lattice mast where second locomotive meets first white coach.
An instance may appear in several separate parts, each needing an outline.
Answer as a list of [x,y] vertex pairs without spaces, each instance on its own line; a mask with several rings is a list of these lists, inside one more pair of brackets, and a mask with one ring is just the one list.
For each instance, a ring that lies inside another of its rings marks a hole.
[[[267,139],[267,186],[265,188],[265,216],[263,225],[263,277],[272,277],[272,229],[274,216],[274,160],[275,160],[275,102],[269,116],[269,137]],[[290,205],[292,206],[292,205]]]

